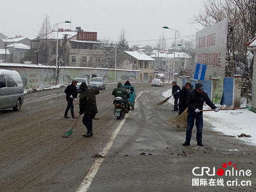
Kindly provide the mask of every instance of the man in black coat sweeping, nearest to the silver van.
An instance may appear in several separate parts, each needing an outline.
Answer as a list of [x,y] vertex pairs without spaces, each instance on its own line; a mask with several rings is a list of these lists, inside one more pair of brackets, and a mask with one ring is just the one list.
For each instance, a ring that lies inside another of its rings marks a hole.
[[67,86],[65,89],[66,93],[66,100],[67,100],[67,108],[64,114],[64,118],[70,118],[67,116],[67,113],[70,109],[72,118],[75,119],[76,117],[74,116],[74,105],[73,105],[73,98],[76,100],[77,98],[77,92],[76,92],[76,85],[77,85],[77,80],[72,80],[71,84]]

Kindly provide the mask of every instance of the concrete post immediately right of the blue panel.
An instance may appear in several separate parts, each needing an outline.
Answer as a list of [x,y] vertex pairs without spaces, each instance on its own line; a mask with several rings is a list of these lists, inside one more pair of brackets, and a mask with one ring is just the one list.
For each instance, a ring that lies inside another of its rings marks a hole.
[[233,75],[233,107],[241,107],[241,86],[243,75]]

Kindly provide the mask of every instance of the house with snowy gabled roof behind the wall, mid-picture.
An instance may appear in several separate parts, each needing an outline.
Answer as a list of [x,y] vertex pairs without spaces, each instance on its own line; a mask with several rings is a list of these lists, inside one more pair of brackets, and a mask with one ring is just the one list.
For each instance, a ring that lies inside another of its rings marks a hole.
[[151,82],[154,79],[155,60],[144,53],[123,51],[116,56],[118,69],[140,70],[140,80]]

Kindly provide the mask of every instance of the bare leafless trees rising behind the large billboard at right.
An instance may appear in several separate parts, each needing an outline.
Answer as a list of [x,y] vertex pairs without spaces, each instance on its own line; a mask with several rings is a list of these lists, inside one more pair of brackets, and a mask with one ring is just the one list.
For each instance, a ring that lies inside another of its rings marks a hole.
[[[207,0],[204,8],[194,15],[193,22],[208,27],[228,19],[233,29],[235,73],[243,74],[243,85],[246,87],[244,96],[251,93],[253,62],[246,59],[249,42],[256,33],[256,1],[255,0]],[[247,99],[249,103],[249,99]]]

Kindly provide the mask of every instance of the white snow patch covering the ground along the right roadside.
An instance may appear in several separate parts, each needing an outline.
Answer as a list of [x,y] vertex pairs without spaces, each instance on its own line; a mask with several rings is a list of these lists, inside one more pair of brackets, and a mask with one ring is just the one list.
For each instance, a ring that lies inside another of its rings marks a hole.
[[[163,97],[169,97],[172,94],[172,89],[169,89],[162,93]],[[169,103],[174,104],[174,98],[168,100]],[[226,108],[225,106],[218,105],[218,108]],[[242,105],[241,107],[245,107]],[[203,106],[203,109],[210,109],[209,106]],[[256,113],[249,111],[248,109],[236,109],[236,110],[223,110],[219,112],[209,111],[203,112],[203,119],[207,120],[214,127],[213,129],[218,132],[222,132],[225,135],[236,136],[245,133],[251,137],[241,137],[243,142],[256,145]]]

